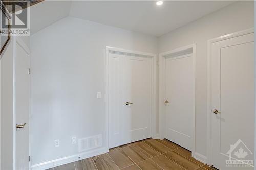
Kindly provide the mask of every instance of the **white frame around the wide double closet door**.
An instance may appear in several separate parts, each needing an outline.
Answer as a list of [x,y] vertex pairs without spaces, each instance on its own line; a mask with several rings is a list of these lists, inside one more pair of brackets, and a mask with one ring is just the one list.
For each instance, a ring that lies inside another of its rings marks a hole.
[[152,103],[151,103],[151,137],[157,138],[156,132],[156,119],[157,119],[157,111],[156,111],[156,104],[157,104],[157,96],[156,96],[156,67],[157,67],[157,60],[156,54],[151,53],[144,53],[138,52],[133,50],[125,50],[122,48],[115,48],[106,46],[105,51],[105,116],[106,116],[106,148],[109,149],[109,53],[118,53],[123,55],[129,56],[139,56],[139,57],[151,57],[152,58]]

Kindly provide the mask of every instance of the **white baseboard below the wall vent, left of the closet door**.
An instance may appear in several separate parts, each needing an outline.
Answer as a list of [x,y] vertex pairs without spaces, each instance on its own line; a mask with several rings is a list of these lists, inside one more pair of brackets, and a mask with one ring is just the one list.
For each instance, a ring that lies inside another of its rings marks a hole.
[[82,152],[77,155],[71,155],[71,156],[67,156],[67,157],[63,157],[63,158],[59,158],[59,159],[55,159],[55,160],[51,160],[51,161],[47,161],[47,162],[43,162],[43,163],[38,163],[38,164],[32,165],[31,168],[32,168],[32,170],[49,169],[49,168],[64,165],[67,163],[75,162],[75,161],[78,161],[81,159],[86,159],[86,158],[90,158],[92,156],[104,154],[106,152],[109,152],[108,148],[105,148],[105,147],[97,148],[95,150],[88,151],[88,152]]

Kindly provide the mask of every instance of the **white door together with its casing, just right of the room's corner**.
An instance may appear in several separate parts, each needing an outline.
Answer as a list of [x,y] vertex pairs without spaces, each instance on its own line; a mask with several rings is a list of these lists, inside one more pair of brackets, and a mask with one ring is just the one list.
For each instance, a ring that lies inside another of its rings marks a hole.
[[176,142],[194,156],[196,45],[161,53],[159,78],[160,138]]

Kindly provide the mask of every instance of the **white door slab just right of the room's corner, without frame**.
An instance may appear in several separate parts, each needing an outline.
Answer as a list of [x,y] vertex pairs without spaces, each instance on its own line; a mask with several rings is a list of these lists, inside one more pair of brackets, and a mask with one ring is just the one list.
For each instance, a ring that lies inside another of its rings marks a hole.
[[165,58],[165,138],[191,151],[194,116],[193,55]]

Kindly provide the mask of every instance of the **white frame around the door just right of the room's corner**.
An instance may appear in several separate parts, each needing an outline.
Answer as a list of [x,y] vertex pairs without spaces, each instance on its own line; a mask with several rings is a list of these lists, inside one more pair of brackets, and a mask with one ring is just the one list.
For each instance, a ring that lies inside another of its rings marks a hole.
[[165,138],[165,57],[168,55],[192,54],[193,57],[193,134],[192,134],[192,156],[195,153],[195,113],[196,113],[196,44],[191,44],[159,54],[159,133],[160,139]]

